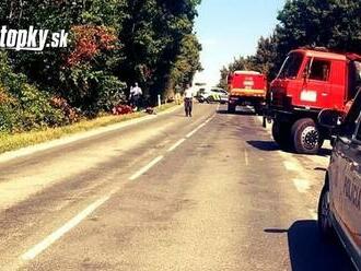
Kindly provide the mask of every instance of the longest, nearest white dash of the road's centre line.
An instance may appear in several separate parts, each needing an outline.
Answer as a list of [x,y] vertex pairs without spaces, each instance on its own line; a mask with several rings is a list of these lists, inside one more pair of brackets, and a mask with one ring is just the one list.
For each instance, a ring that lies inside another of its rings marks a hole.
[[47,249],[51,244],[54,244],[56,240],[58,240],[62,235],[68,233],[70,229],[75,227],[80,222],[82,222],[86,216],[89,216],[91,213],[93,213],[97,208],[100,208],[102,204],[104,204],[110,196],[104,197],[102,199],[98,199],[91,205],[89,205],[86,209],[84,209],[82,212],[80,212],[77,216],[68,221],[63,226],[55,231],[53,234],[47,236],[44,240],[35,245],[33,248],[27,250],[25,254],[21,256],[21,259],[28,261],[34,259],[36,256],[42,254],[45,249]]

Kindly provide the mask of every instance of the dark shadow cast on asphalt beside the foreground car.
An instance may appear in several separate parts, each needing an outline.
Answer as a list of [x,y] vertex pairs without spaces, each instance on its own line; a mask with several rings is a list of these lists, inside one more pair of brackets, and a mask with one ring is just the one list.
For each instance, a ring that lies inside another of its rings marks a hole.
[[289,229],[267,228],[269,234],[288,234],[289,252],[293,271],[352,271],[351,260],[343,247],[335,244],[324,244],[316,221],[296,221]]

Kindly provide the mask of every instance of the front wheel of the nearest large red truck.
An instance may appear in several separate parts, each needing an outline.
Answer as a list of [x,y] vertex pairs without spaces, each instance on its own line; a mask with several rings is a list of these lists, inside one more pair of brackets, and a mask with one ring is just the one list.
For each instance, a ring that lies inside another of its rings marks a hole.
[[311,118],[299,119],[291,129],[294,151],[303,154],[316,154],[323,139],[316,123]]

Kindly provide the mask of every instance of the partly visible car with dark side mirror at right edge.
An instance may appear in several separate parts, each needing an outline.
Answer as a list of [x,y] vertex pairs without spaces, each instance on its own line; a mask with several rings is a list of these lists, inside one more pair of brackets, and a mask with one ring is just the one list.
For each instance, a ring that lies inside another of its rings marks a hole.
[[336,233],[361,270],[361,92],[343,120],[331,110],[318,118],[336,134],[319,197],[318,227],[326,240]]

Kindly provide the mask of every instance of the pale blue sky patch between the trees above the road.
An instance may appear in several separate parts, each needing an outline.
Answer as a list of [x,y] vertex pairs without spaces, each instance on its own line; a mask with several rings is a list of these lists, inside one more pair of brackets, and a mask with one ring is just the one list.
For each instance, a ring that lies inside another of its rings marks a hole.
[[234,57],[255,54],[258,38],[272,33],[286,0],[202,0],[196,33],[205,71],[196,82],[216,85],[220,69]]

